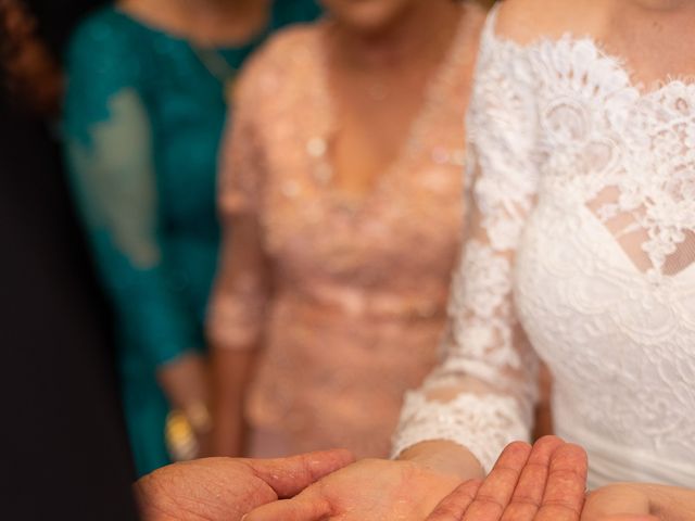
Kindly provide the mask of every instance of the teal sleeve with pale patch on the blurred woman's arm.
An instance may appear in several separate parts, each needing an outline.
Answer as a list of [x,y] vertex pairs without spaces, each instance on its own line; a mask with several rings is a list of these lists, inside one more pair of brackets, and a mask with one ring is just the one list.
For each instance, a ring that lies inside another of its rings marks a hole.
[[161,365],[198,347],[198,336],[162,249],[146,67],[135,41],[109,18],[80,27],[67,56],[63,128],[76,202],[119,333]]

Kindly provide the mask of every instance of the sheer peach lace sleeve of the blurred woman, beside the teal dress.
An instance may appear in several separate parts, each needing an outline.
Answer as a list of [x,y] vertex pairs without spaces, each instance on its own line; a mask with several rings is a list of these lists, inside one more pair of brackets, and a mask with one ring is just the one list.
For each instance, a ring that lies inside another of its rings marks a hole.
[[256,127],[255,63],[247,69],[235,100],[235,115],[223,143],[219,208],[224,239],[207,318],[212,345],[255,347],[268,295],[262,208],[265,160]]

